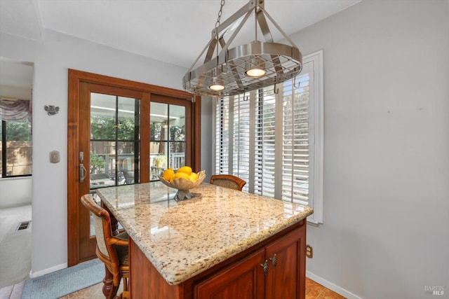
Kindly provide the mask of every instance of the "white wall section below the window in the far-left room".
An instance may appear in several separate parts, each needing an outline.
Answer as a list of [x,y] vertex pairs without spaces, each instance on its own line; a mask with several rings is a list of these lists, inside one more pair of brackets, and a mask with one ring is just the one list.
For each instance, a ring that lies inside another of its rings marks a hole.
[[0,180],[0,209],[31,204],[31,200],[31,176]]

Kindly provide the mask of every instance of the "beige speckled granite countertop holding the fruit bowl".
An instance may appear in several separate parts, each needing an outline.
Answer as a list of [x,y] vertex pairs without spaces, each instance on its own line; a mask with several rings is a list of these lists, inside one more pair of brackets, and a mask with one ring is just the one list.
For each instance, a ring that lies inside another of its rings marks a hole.
[[300,204],[201,183],[190,200],[161,182],[96,191],[168,284],[176,285],[313,213]]

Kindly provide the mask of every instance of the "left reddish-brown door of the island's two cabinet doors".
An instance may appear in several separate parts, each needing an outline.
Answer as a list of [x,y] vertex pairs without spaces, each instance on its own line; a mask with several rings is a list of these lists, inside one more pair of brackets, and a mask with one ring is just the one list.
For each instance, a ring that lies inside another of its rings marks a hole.
[[264,250],[261,249],[196,284],[194,298],[264,298],[264,270],[261,266],[263,263]]

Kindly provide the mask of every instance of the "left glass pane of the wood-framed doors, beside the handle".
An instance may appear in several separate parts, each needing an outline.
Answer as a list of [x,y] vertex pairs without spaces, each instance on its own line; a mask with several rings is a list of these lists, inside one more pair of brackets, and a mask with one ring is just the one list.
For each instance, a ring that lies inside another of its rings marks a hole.
[[[139,128],[139,99],[91,92],[90,165],[86,167],[91,193],[139,182]],[[100,205],[100,198],[94,196]],[[92,219],[91,235],[95,235]]]

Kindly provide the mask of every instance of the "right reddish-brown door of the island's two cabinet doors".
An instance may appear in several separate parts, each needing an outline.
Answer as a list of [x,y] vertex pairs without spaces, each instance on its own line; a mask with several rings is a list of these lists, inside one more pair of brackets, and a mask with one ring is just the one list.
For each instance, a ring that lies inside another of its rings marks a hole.
[[305,298],[305,226],[266,247],[266,299]]

